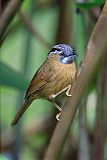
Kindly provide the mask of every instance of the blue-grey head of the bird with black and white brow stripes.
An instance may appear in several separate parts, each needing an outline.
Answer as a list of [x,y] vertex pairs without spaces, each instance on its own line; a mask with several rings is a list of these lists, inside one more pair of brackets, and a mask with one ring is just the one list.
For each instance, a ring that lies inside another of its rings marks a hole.
[[57,54],[58,61],[63,64],[71,64],[77,56],[73,48],[67,44],[58,44],[53,46],[51,51],[48,53],[48,56],[52,54]]

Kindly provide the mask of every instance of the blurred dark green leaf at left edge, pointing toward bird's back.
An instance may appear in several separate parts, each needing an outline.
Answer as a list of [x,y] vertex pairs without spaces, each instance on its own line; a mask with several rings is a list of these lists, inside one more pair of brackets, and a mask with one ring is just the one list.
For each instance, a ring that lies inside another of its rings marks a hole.
[[8,65],[0,62],[0,85],[13,87],[24,91],[28,86],[28,80],[21,73]]

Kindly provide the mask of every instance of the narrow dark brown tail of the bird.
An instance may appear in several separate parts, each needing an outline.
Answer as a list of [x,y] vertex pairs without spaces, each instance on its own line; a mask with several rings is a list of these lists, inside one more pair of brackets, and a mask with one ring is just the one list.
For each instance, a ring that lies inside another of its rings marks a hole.
[[13,119],[11,126],[14,127],[17,122],[19,121],[19,119],[23,116],[24,112],[27,110],[27,108],[29,107],[29,105],[32,103],[32,101],[29,100],[25,100],[25,102],[22,104],[20,110],[17,112],[15,118]]

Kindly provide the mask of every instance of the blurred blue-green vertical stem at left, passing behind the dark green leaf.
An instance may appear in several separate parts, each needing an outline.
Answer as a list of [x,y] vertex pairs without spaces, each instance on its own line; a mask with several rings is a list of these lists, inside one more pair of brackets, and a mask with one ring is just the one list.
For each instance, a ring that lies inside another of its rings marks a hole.
[[[30,6],[30,17],[33,18],[33,14],[34,14],[34,5],[33,5],[33,1],[31,2],[31,6]],[[29,76],[29,61],[30,61],[30,50],[31,50],[31,33],[26,32],[26,30],[24,31],[26,35],[26,43],[25,43],[25,52],[24,52],[24,57],[23,57],[23,61],[22,61],[22,72],[23,75],[26,75],[26,77]],[[22,44],[23,45],[23,44]],[[20,104],[23,101],[23,97],[24,94],[23,93],[18,93],[17,96],[17,105],[18,108],[20,107]],[[14,128],[14,137],[15,137],[15,141],[14,141],[14,158],[15,160],[19,159],[19,153],[21,150],[21,144],[22,144],[22,139],[21,139],[21,123],[19,122],[19,125],[16,126],[16,128]]]

